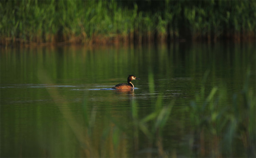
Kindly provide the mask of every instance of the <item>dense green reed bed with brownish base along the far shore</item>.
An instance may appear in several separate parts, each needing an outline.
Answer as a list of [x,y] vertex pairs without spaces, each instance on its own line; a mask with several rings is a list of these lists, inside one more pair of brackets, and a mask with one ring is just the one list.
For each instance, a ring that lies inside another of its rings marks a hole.
[[0,1],[1,44],[253,39],[255,1]]

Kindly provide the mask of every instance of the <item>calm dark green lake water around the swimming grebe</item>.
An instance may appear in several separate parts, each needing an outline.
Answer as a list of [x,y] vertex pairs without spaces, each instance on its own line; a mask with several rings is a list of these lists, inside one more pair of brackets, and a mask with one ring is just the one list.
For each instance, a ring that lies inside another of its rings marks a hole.
[[[255,54],[231,42],[1,49],[1,157],[247,157],[240,139],[231,153],[207,140],[195,151],[187,109],[202,85],[225,88],[231,104],[248,71],[255,94]],[[134,91],[109,89],[128,75],[141,79]],[[171,107],[161,132],[140,124],[158,103]]]

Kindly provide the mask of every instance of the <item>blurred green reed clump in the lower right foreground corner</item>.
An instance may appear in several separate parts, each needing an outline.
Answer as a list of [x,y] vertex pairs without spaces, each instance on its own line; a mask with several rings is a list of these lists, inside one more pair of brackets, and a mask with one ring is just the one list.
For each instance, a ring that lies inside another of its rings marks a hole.
[[248,86],[249,76],[243,90],[231,100],[227,99],[225,88],[214,87],[205,96],[203,84],[200,94],[188,108],[194,131],[193,144],[200,146],[193,156],[234,157],[233,142],[239,141],[246,153],[244,156],[255,157],[256,98],[255,90]]

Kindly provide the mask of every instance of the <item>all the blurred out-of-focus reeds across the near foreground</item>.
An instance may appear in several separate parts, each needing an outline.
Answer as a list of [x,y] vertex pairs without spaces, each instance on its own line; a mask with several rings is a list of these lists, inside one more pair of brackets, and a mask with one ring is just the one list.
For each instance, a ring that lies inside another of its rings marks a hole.
[[[39,72],[39,78],[43,83],[51,83],[43,71]],[[153,84],[152,74],[151,83]],[[92,109],[89,117],[86,102],[84,103],[86,121],[84,126],[69,110],[63,108],[63,104],[69,103],[58,93],[56,88],[47,90],[80,142],[82,150],[80,156],[177,156],[176,150],[166,150],[163,142],[165,137],[163,129],[166,123],[171,121],[169,116],[173,102],[164,105],[161,94],[157,98],[153,112],[143,118],[140,118],[139,115],[138,101],[133,99],[131,102],[132,119],[128,126],[122,124],[122,120],[116,120],[109,115],[106,117],[110,118],[110,122],[102,123],[102,127],[94,127],[97,111],[95,108]],[[232,104],[226,98],[225,88],[214,87],[206,95],[204,85],[202,85],[200,94],[195,96],[195,100],[187,108],[190,117],[189,123],[193,131],[193,143],[190,146],[191,156],[234,157],[236,156],[233,155],[236,149],[234,142],[242,142],[240,148],[246,150],[245,156],[255,156],[255,91],[250,89],[247,81],[242,92],[234,95]],[[131,151],[134,155],[131,155]]]

